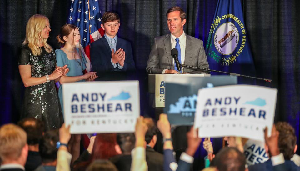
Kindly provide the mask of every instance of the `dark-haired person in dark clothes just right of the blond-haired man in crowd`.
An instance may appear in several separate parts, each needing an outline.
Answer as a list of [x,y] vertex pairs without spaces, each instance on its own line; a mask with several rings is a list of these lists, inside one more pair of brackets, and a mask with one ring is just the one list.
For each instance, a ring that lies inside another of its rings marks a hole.
[[36,118],[24,118],[18,125],[27,133],[28,157],[25,170],[32,171],[42,164],[38,147],[43,138],[44,123]]

